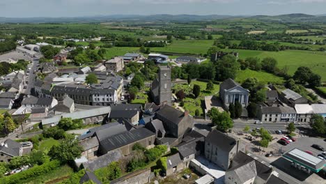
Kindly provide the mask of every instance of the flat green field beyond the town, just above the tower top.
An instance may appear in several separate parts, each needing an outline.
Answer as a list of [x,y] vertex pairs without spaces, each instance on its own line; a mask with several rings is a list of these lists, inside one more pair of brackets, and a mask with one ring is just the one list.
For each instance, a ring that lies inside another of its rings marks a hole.
[[173,40],[166,47],[150,48],[152,52],[173,52],[180,54],[205,54],[213,45],[214,40]]

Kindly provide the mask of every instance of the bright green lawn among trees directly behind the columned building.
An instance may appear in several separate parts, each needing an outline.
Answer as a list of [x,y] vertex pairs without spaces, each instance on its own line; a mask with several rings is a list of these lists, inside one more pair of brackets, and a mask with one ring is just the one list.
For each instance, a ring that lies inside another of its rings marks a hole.
[[235,80],[239,83],[242,83],[248,77],[256,77],[256,79],[258,79],[259,82],[264,82],[265,84],[267,84],[268,82],[271,82],[273,84],[284,83],[284,79],[281,77],[277,77],[276,75],[272,75],[267,72],[263,72],[263,71],[257,72],[250,69],[240,70]]

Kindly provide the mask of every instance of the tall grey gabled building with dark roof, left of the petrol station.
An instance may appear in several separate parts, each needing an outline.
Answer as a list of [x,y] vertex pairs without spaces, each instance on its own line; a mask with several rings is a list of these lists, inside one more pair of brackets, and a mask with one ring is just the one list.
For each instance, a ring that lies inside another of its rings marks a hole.
[[205,158],[227,170],[233,157],[244,148],[240,140],[213,129],[205,139]]

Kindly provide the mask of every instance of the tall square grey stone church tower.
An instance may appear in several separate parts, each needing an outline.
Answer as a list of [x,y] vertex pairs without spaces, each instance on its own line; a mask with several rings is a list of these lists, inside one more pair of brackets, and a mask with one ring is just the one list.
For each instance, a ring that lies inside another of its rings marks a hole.
[[150,89],[154,102],[157,105],[171,105],[171,68],[160,66],[157,79],[155,79]]

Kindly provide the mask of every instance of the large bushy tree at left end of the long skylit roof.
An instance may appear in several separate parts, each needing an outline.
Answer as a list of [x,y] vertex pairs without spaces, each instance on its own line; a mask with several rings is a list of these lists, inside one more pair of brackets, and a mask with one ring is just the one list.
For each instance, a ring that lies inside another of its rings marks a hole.
[[49,156],[52,160],[59,160],[62,164],[75,160],[81,156],[83,148],[79,146],[78,139],[72,135],[67,135],[59,146],[52,146]]

